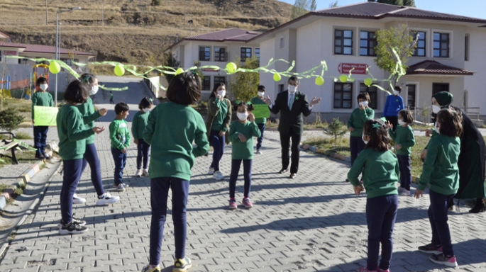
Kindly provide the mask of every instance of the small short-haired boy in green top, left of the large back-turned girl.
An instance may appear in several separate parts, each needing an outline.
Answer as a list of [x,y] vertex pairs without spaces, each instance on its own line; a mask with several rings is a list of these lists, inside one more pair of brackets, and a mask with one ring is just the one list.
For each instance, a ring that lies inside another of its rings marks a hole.
[[123,192],[128,185],[123,183],[123,169],[126,165],[127,148],[130,145],[130,131],[126,117],[130,108],[126,103],[120,102],[115,105],[116,118],[110,124],[111,154],[115,161],[115,183],[116,191]]

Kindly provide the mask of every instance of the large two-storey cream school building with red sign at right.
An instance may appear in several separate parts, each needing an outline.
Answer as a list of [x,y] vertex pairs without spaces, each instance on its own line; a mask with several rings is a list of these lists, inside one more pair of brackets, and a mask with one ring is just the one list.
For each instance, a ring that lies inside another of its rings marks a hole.
[[[407,25],[411,35],[418,35],[417,48],[409,58],[407,74],[402,86],[405,107],[431,106],[431,96],[438,91],[450,91],[454,106],[462,106],[472,119],[486,115],[486,20],[425,11],[419,8],[364,2],[321,11],[312,11],[293,21],[255,36],[247,41],[259,46],[260,63],[271,58],[295,60],[294,72],[304,72],[325,60],[328,72],[322,86],[313,79],[302,79],[299,90],[309,100],[322,97],[314,113],[331,120],[338,116],[347,120],[358,106],[356,96],[368,91],[372,108],[380,116],[387,94],[376,87],[368,87],[364,80],[370,77],[387,79],[389,74],[377,67],[374,47],[375,32]],[[245,45],[241,45],[243,47]],[[275,64],[273,69],[285,71],[289,64]],[[332,78],[353,70],[355,81],[341,83]],[[320,70],[319,70],[320,72]],[[375,82],[376,83],[376,82]],[[272,99],[287,89],[287,79],[275,82],[272,74],[261,73],[260,84],[266,86]],[[387,82],[377,82],[387,88]],[[311,115],[312,117],[312,115]],[[310,117],[310,118],[311,118]],[[309,120],[309,119],[308,119]]]

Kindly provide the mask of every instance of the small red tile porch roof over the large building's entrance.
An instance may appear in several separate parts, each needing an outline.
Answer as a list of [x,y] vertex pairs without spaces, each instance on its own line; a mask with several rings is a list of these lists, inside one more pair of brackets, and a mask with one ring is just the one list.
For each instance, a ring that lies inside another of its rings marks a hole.
[[412,74],[472,76],[474,72],[441,64],[435,60],[425,60],[407,69],[407,75]]

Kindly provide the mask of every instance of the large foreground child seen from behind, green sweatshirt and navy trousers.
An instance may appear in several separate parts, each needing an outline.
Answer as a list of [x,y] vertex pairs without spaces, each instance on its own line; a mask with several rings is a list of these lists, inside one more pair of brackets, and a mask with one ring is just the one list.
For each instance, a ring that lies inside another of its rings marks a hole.
[[[167,215],[167,198],[172,190],[175,260],[172,271],[187,271],[192,262],[185,256],[187,197],[191,169],[196,157],[209,151],[204,120],[189,105],[201,98],[201,79],[185,72],[175,76],[167,88],[169,102],[156,106],[148,115],[143,140],[150,151],[150,258],[142,272],[160,272],[160,250]],[[193,145],[193,143],[195,145]]]

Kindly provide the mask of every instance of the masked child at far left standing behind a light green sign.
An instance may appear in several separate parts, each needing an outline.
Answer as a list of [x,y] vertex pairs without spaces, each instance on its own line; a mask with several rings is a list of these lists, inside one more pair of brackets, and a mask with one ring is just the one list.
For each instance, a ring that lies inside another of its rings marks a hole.
[[34,125],[34,147],[35,159],[50,159],[48,154],[45,154],[45,143],[48,138],[49,127],[47,125],[35,125],[35,106],[53,107],[54,101],[47,89],[49,88],[48,80],[45,77],[39,77],[35,82],[38,91],[32,96],[32,124]]

